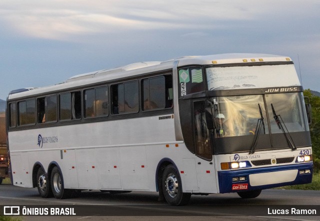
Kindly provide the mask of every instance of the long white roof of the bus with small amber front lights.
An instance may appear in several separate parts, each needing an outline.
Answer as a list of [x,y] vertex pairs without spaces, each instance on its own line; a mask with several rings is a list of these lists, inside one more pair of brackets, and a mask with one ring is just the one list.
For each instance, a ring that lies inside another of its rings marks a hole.
[[[82,85],[89,85],[100,81],[108,81],[112,79],[121,79],[134,76],[141,73],[150,73],[160,70],[169,70],[173,67],[173,62],[178,61],[178,66],[184,65],[209,65],[209,64],[231,64],[231,63],[258,63],[258,62],[274,62],[274,61],[291,61],[289,57],[271,55],[271,54],[253,54],[253,53],[229,53],[214,54],[204,56],[183,56],[167,61],[148,61],[128,64],[125,66],[93,71],[89,73],[79,74],[68,78],[63,83],[40,87],[40,88],[22,88],[13,90],[8,95],[9,99],[25,97],[34,94],[53,93],[54,91],[66,88],[75,88]],[[32,90],[31,90],[32,89]]]

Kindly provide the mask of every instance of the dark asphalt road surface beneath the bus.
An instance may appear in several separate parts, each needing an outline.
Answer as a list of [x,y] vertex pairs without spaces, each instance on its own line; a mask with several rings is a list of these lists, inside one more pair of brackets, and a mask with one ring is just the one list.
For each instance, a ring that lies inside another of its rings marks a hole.
[[[298,205],[304,205],[302,206],[303,209],[312,209],[313,207],[320,214],[320,191],[263,190],[259,197],[246,200],[241,199],[237,194],[192,195],[189,205],[183,207],[172,207],[168,206],[165,202],[158,202],[157,195],[157,193],[149,192],[112,195],[99,191],[82,191],[76,198],[56,200],[54,198],[41,198],[36,188],[30,189],[0,185],[0,205],[3,206],[39,205],[47,208],[82,206],[80,209],[83,211],[90,210],[90,208],[95,209],[94,212],[89,213],[87,216],[51,216],[45,218],[41,216],[23,216],[21,218],[24,221],[161,221],[167,219],[174,219],[174,221],[320,220],[320,215],[317,215],[317,217],[292,216],[290,213],[281,217],[272,216],[272,214],[268,215],[268,213],[281,212],[281,210],[285,211],[285,209],[298,208]],[[249,216],[241,216],[243,213]],[[111,216],[99,216],[101,214],[109,214]]]

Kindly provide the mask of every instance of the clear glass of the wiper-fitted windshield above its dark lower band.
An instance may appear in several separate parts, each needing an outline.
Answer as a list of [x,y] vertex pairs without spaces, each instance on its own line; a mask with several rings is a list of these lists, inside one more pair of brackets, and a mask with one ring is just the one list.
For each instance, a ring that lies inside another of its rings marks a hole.
[[[271,103],[277,115],[281,116],[289,132],[307,131],[305,115],[298,93],[266,94],[266,107],[271,133],[282,133],[273,118]],[[264,134],[268,134],[266,111],[262,95],[226,96],[212,98],[214,104],[216,134],[220,137],[252,135],[258,119],[263,118]],[[223,130],[223,134],[222,134]]]

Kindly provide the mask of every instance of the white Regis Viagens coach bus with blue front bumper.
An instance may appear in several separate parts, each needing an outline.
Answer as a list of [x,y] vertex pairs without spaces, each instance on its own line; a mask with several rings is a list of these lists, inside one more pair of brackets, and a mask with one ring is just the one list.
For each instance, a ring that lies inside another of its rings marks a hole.
[[12,91],[13,185],[43,198],[81,190],[190,196],[310,183],[302,87],[288,57],[186,56]]

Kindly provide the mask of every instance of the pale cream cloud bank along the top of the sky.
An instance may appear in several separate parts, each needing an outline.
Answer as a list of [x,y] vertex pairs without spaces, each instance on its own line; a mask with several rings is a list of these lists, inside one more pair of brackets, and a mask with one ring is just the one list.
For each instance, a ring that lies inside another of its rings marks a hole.
[[215,28],[225,24],[221,20],[252,20],[261,11],[236,1],[210,0],[17,2],[0,3],[2,21],[20,34],[57,40],[127,30]]

